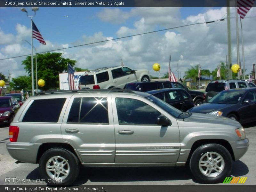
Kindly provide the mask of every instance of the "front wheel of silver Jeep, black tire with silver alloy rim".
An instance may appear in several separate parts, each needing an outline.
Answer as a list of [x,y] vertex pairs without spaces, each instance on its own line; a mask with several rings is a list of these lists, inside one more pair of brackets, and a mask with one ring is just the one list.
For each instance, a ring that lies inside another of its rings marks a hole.
[[[220,160],[221,157],[222,161],[218,163],[217,160]],[[201,166],[199,165],[199,162],[202,161],[205,162],[205,166],[203,163]],[[224,181],[225,177],[230,175],[232,169],[232,158],[228,150],[222,145],[214,143],[205,144],[198,147],[193,152],[189,166],[193,176],[199,182],[220,183]],[[218,172],[215,170],[218,170]]]

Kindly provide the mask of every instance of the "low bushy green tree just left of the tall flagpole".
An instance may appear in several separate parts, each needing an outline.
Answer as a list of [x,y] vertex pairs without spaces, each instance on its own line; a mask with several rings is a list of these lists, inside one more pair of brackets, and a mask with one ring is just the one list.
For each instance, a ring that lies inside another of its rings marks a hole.
[[12,78],[10,86],[15,91],[20,91],[22,89],[28,90],[31,88],[31,77],[29,76],[18,76],[17,78]]

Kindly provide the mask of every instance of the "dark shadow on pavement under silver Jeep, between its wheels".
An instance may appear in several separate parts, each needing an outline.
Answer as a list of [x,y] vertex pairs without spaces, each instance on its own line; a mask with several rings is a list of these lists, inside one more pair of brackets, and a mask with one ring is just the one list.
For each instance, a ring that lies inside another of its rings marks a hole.
[[190,180],[192,174],[184,167],[82,167],[74,185],[91,182],[133,182]]

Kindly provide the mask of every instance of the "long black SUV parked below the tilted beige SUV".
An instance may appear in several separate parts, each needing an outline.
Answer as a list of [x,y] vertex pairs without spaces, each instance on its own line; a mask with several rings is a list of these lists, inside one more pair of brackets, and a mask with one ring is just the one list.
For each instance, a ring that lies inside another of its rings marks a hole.
[[125,89],[131,89],[134,91],[147,92],[155,89],[164,89],[164,88],[180,88],[187,91],[195,105],[200,105],[204,102],[205,94],[200,91],[191,91],[184,85],[178,82],[171,81],[152,81],[152,82],[134,82],[128,83],[125,85]]

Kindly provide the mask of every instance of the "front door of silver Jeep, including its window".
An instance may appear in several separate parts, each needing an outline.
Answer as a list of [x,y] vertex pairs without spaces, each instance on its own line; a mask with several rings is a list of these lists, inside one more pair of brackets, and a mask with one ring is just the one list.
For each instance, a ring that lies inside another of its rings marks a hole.
[[[162,113],[144,99],[113,98],[115,163],[174,163],[180,152],[176,120],[164,127],[155,124]],[[166,114],[165,114],[166,115]]]

